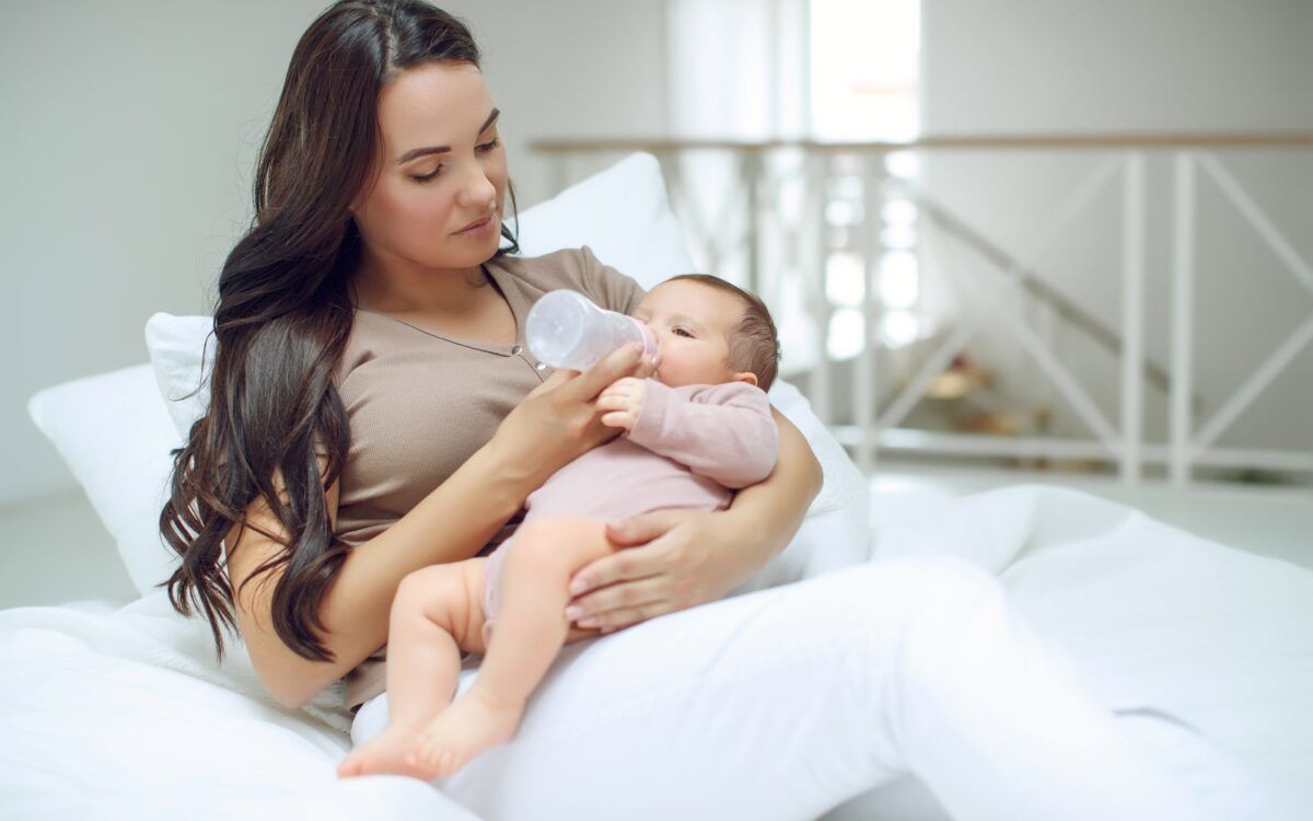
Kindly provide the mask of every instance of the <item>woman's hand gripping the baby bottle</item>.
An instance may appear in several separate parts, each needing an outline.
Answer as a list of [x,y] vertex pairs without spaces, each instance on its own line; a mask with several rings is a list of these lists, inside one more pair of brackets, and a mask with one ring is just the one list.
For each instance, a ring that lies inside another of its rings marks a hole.
[[500,464],[524,482],[525,495],[571,460],[613,439],[597,394],[625,377],[647,378],[655,363],[630,343],[584,370],[559,368],[507,414],[488,443]]

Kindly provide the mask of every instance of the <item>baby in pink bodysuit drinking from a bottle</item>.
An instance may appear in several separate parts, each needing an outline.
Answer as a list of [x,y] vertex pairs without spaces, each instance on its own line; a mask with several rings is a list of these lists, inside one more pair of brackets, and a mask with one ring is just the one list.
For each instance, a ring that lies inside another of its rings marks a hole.
[[[387,728],[353,749],[340,778],[395,772],[432,780],[509,741],[571,628],[576,570],[614,553],[605,524],[663,507],[722,510],[775,469],[779,428],[765,390],[779,342],[769,311],[717,277],[684,275],[649,292],[634,318],[656,338],[655,378],[617,380],[597,397],[624,433],[554,473],[492,553],[406,577],[387,636]],[[494,624],[496,628],[494,629]],[[461,650],[482,654],[454,703]]]

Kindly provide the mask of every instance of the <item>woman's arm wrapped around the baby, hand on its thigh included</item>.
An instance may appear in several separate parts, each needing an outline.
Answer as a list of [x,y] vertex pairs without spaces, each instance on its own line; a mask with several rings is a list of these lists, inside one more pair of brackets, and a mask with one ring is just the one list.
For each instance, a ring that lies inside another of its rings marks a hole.
[[[822,472],[797,427],[771,409],[780,457],[764,481],[738,491],[729,510],[658,510],[608,528],[629,546],[599,558],[571,582],[579,627],[629,627],[723,598],[784,549],[821,493]],[[591,621],[590,621],[591,620]]]

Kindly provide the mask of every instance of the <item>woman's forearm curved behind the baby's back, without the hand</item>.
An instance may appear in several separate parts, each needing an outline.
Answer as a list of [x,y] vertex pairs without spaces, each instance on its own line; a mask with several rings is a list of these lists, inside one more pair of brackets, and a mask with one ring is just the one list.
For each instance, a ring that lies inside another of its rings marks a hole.
[[775,407],[780,427],[780,456],[775,470],[762,482],[744,487],[734,497],[725,516],[734,528],[737,578],[741,585],[784,549],[821,493],[821,462],[802,432]]

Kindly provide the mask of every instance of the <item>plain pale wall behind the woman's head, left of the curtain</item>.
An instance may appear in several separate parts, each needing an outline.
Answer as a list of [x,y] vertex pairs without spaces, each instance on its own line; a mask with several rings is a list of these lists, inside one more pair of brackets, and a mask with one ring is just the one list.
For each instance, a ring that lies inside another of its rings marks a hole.
[[[288,60],[327,5],[0,5],[0,503],[72,485],[29,395],[146,361],[155,311],[213,307]],[[664,127],[662,0],[441,5],[484,51],[521,206],[550,193],[530,139]]]

